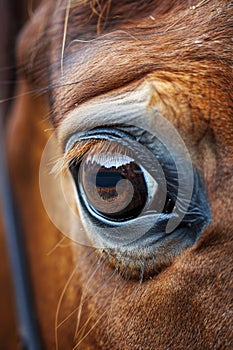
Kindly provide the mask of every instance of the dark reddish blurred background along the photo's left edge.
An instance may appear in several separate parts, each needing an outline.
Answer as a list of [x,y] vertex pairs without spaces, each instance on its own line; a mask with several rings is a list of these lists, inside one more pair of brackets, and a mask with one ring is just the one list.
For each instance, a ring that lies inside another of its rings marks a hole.
[[[15,46],[18,33],[32,15],[39,0],[0,0],[0,147],[14,101],[17,67]],[[3,165],[0,176],[3,178]],[[6,249],[0,192],[0,349],[20,349],[16,332],[15,302]]]

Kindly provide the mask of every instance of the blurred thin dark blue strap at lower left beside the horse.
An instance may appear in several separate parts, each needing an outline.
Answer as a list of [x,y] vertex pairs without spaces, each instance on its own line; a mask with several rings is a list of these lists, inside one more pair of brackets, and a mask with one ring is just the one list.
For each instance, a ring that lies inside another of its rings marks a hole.
[[22,348],[24,350],[40,350],[42,344],[30,288],[23,235],[16,215],[9,181],[2,115],[0,115],[0,199]]

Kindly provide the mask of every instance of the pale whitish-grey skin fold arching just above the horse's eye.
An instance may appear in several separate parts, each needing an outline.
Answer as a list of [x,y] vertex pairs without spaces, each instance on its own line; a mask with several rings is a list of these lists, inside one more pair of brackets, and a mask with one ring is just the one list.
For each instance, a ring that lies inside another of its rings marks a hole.
[[69,112],[57,127],[57,136],[63,149],[72,134],[103,125],[129,124],[150,129],[151,115],[156,111],[148,108],[151,85],[145,82],[136,90],[114,96],[96,98]]

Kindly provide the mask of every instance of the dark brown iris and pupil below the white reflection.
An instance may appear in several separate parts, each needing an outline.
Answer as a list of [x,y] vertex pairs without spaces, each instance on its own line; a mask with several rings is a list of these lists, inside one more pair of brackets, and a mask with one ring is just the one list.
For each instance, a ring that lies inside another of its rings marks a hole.
[[147,185],[141,168],[133,161],[118,167],[88,162],[80,171],[88,203],[99,215],[123,221],[137,217],[143,210]]

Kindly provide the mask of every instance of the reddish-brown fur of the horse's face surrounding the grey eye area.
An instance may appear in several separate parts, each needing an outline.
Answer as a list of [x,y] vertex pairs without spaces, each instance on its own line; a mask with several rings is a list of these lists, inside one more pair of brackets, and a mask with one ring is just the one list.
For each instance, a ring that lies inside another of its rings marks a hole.
[[[72,1],[69,11],[67,4],[42,1],[20,35],[18,98],[7,134],[46,348],[56,343],[65,350],[230,350],[232,3]],[[38,167],[50,121],[57,128],[80,104],[131,91],[144,81],[153,91],[149,106],[178,129],[202,175],[213,222],[194,247],[139,284],[122,279],[103,261],[97,264],[95,252],[85,246],[73,244],[78,268],[69,245],[58,244],[46,255],[62,236],[43,209]],[[54,324],[70,314],[56,336]]]

